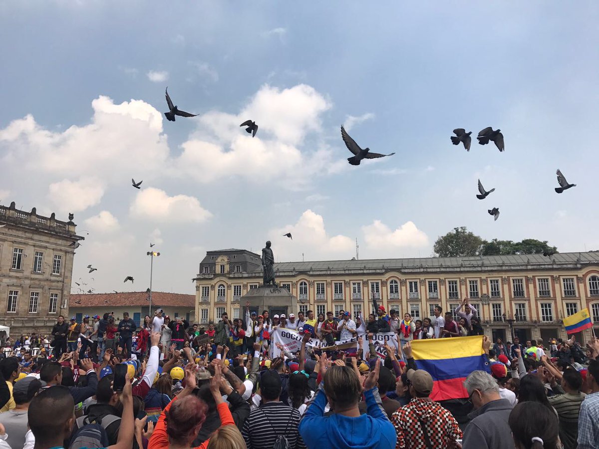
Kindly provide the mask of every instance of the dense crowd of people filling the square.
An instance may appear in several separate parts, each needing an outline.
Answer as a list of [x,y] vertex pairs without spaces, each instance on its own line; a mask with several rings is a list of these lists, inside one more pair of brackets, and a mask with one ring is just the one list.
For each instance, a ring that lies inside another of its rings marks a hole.
[[[49,336],[2,342],[0,449],[599,447],[599,340],[483,335],[488,371],[463,380],[467,399],[435,402],[438,374],[418,369],[413,341],[483,332],[467,301],[434,315],[270,317],[248,303],[207,329],[161,309],[140,326],[59,317]],[[299,332],[297,352],[277,329]],[[380,332],[397,334],[384,357]]]

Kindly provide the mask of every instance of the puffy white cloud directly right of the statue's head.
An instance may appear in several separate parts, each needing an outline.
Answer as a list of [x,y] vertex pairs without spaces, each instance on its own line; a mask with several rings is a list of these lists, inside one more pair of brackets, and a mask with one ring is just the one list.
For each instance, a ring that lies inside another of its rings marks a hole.
[[[292,244],[289,238],[283,236],[291,232]],[[325,222],[321,215],[310,209],[306,210],[295,225],[287,225],[280,229],[271,230],[268,235],[277,248],[280,260],[301,260],[303,251],[308,260],[331,259],[332,257],[347,257],[349,259],[355,249],[352,238],[344,235],[330,236],[325,230]]]

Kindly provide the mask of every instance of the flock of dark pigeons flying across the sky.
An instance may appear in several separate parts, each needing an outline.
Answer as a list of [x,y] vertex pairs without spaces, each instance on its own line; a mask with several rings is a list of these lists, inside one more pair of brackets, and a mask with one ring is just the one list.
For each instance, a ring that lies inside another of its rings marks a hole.
[[[181,111],[179,109],[179,107],[177,107],[177,105],[174,105],[173,101],[171,100],[170,95],[168,95],[168,86],[165,89],[165,96],[167,98],[168,112],[164,113],[164,115],[165,115],[165,117],[167,117],[167,120],[169,120],[170,122],[175,122],[176,116],[179,116],[179,117],[196,117],[196,116],[198,116],[198,114],[191,114],[186,111]],[[256,122],[254,122],[253,120],[246,120],[245,122],[241,123],[241,125],[239,125],[239,126],[240,127],[246,126],[246,132],[249,134],[252,134],[252,138],[255,137],[256,132],[258,132],[258,125],[256,125]],[[470,135],[472,134],[472,132],[471,131],[466,132],[466,130],[464,128],[456,128],[453,130],[453,134],[455,134],[455,136],[450,137],[452,144],[459,145],[461,143],[464,145],[464,148],[466,149],[466,151],[470,151],[470,145],[472,142],[472,138]],[[389,154],[371,153],[370,148],[360,147],[356,143],[356,141],[349,134],[347,134],[347,131],[345,130],[343,125],[341,125],[341,138],[343,139],[343,142],[345,143],[347,149],[353,154],[353,156],[347,158],[347,162],[349,162],[351,165],[360,165],[360,162],[363,159],[378,159],[379,157],[393,156],[395,154],[395,153],[389,153]],[[486,145],[489,142],[494,142],[495,146],[501,153],[503,153],[503,151],[505,150],[503,134],[501,133],[500,129],[493,129],[491,126],[488,126],[487,128],[482,129],[479,132],[479,134],[476,136],[476,138],[479,141],[480,145]],[[564,190],[570,189],[570,187],[576,187],[576,184],[568,183],[568,181],[566,180],[566,178],[564,177],[564,175],[562,174],[562,172],[559,169],[556,171],[556,175],[557,175],[558,183],[559,183],[559,187],[555,188],[556,193],[562,193],[562,192],[564,192]],[[491,190],[485,190],[485,187],[483,187],[482,183],[480,182],[480,179],[478,181],[479,181],[478,182],[479,194],[476,195],[476,198],[485,199],[487,196],[489,196],[490,193],[495,192],[495,188],[493,188]],[[139,182],[135,182],[135,179],[131,178],[131,185],[133,187],[135,187],[135,189],[141,189],[141,183],[143,183],[143,180],[141,180]],[[499,208],[497,208],[497,207],[489,209],[488,213],[489,213],[489,215],[494,217],[495,221],[497,221],[497,219],[499,218],[499,215],[500,215]],[[73,218],[72,214],[69,214],[69,220],[72,220],[72,218]],[[283,234],[283,236],[288,237],[293,240],[291,232]],[[74,249],[77,249],[78,247],[80,247],[80,245],[81,244],[77,241],[74,241],[71,243],[71,246],[74,247]],[[154,244],[150,243],[150,248],[153,246],[154,246]],[[92,273],[93,271],[96,271],[96,268],[93,268],[92,265],[88,265],[87,268],[89,269],[90,273]],[[81,281],[81,278],[80,278],[80,281]],[[133,283],[134,279],[132,276],[127,276],[123,282],[126,283],[127,281],[131,281],[131,283]],[[77,284],[77,286],[80,285],[79,283],[75,283],[75,284]],[[83,285],[87,285],[87,284],[83,284]],[[79,290],[82,290],[82,289],[79,289]],[[87,290],[87,293],[93,293],[93,289]],[[114,290],[114,293],[118,293],[118,292],[116,290]]]

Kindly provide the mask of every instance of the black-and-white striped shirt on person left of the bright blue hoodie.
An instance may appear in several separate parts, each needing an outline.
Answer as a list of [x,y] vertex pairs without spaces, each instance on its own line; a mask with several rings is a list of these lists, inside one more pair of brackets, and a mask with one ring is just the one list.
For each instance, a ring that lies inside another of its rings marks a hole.
[[286,436],[292,449],[304,449],[298,426],[299,411],[283,402],[267,402],[250,412],[241,435],[247,449],[271,449],[279,435]]

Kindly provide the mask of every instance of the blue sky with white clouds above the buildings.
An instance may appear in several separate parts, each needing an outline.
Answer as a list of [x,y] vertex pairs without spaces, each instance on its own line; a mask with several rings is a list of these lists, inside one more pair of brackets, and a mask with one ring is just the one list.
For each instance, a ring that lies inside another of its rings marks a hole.
[[[73,278],[97,293],[145,290],[150,242],[153,290],[176,293],[205,251],[267,239],[277,262],[356,239],[429,257],[456,226],[599,249],[598,20],[592,1],[1,2],[0,201],[74,213]],[[198,116],[168,122],[167,86]],[[349,165],[342,124],[395,155]],[[504,153],[450,142],[487,126]]]

